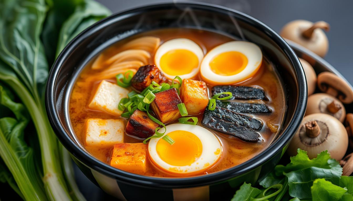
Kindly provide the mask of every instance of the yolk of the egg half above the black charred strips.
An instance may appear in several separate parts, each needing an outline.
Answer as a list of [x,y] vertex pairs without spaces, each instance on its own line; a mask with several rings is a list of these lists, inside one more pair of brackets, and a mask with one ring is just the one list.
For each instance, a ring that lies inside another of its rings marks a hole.
[[210,62],[211,70],[223,76],[235,75],[243,71],[247,65],[247,58],[238,51],[222,52]]

